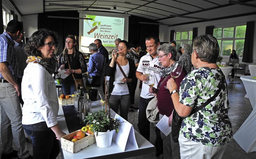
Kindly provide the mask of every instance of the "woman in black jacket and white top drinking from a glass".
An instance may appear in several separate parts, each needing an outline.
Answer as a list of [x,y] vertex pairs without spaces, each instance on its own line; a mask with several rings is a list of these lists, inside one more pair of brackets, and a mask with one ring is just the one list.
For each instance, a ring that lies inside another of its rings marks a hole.
[[[130,83],[136,80],[134,61],[126,57],[129,50],[129,44],[125,40],[118,44],[119,56],[112,53],[112,58],[108,61],[106,68],[106,76],[110,76],[108,93],[111,93],[109,103],[112,110],[118,113],[120,106],[120,116],[128,120],[128,110],[130,107]],[[124,71],[122,74],[116,61]]]

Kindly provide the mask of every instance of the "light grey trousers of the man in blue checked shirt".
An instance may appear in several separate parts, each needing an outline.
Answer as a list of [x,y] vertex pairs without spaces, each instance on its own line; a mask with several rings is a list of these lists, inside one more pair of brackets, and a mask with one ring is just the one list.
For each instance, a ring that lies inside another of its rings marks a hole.
[[28,157],[18,92],[10,83],[0,83],[0,106],[2,152],[7,154],[13,151],[12,139],[14,139],[18,148],[18,157]]

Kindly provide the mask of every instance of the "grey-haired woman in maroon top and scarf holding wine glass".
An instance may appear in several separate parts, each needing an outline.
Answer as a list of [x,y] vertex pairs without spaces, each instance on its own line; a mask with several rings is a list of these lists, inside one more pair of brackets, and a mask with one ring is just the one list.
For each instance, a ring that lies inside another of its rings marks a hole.
[[[176,50],[175,48],[170,44],[162,44],[157,49],[158,53],[158,60],[161,62],[162,66],[164,67],[163,70],[160,72],[161,79],[158,82],[157,88],[150,87],[149,92],[150,93],[156,93],[157,94],[157,107],[159,110],[159,118],[161,119],[164,115],[169,117],[172,114],[172,111],[174,109],[174,105],[172,103],[171,93],[168,89],[165,88],[166,83],[168,79],[171,78],[170,72],[176,66],[175,68],[178,68],[178,64],[176,65]],[[180,82],[182,79],[186,76],[186,70],[185,68],[181,67],[181,70],[176,70],[175,75],[176,76],[175,81],[178,85],[180,85]],[[177,72],[178,71],[178,72]],[[179,74],[179,76],[178,76]],[[177,77],[178,76],[178,77]],[[159,137],[160,138],[160,137]],[[180,158],[180,146],[179,143],[174,143],[172,140],[172,134],[166,136],[164,133],[161,132],[161,138],[163,140],[163,155],[165,159],[169,158]],[[158,139],[158,137],[157,137]]]

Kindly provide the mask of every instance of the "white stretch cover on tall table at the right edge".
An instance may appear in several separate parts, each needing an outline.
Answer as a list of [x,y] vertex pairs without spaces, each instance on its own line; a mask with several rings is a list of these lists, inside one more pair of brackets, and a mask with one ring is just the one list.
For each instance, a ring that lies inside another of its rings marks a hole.
[[256,79],[252,78],[252,76],[242,76],[240,79],[244,83],[253,110],[234,134],[234,139],[246,153],[250,153],[256,151],[256,109],[254,109],[256,107]]

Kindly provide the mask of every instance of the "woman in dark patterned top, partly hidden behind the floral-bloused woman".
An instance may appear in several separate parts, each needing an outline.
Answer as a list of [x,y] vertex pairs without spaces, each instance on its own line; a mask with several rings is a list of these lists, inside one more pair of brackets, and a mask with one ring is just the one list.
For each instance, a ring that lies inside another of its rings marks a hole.
[[193,64],[191,62],[192,48],[189,44],[182,44],[181,52],[182,55],[180,56],[178,62],[180,62],[183,65],[187,73],[190,73],[193,67]]

